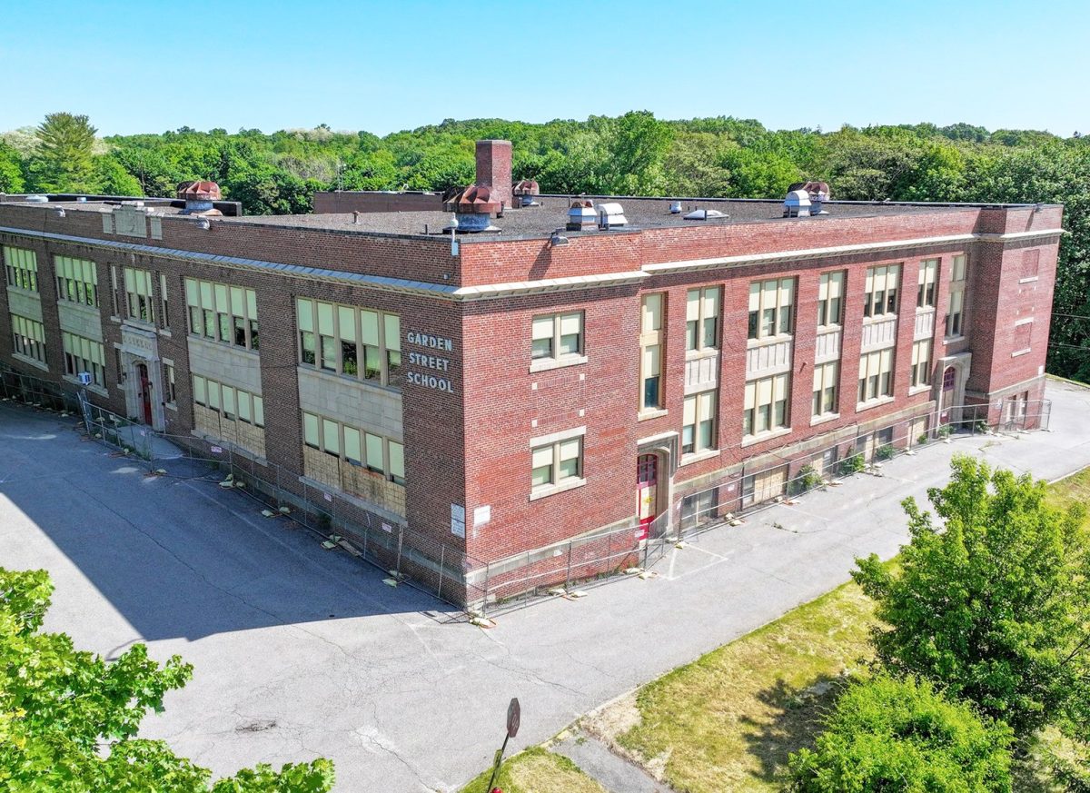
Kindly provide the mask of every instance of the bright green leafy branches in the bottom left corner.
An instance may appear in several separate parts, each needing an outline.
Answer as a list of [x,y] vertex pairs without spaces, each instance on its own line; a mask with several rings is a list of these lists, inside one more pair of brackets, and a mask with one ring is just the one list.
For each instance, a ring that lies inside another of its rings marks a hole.
[[325,759],[267,765],[210,785],[210,772],[162,741],[137,739],[148,710],[181,688],[193,668],[178,656],[160,666],[136,644],[114,661],[76,650],[41,623],[52,584],[41,570],[0,568],[0,789],[12,793],[324,793]]

